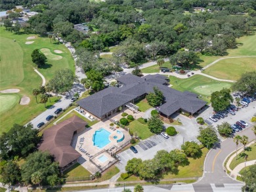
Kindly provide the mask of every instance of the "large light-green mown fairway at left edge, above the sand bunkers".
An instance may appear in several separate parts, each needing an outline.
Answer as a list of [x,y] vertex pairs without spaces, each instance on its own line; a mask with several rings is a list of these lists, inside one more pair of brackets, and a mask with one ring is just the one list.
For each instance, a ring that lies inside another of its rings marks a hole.
[[24,79],[24,52],[17,42],[0,37],[0,87],[1,89],[18,85]]

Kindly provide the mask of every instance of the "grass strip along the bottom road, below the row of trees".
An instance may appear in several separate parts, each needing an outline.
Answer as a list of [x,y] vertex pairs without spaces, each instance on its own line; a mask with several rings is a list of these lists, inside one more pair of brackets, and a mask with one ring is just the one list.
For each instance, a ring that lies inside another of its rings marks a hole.
[[[203,174],[203,163],[208,153],[208,149],[202,149],[202,157],[199,159],[188,158],[190,164],[188,166],[179,166],[179,173],[166,174],[163,179],[174,179],[174,178],[190,178],[190,177],[201,177]],[[139,177],[131,176],[126,180],[118,178],[117,182],[129,182],[129,181],[140,181]]]

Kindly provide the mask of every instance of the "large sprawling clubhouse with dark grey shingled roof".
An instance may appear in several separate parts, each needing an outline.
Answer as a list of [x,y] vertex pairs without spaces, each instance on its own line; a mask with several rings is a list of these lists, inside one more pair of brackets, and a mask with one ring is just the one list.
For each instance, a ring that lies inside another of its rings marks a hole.
[[77,104],[101,120],[119,111],[120,107],[129,107],[136,111],[138,107],[134,105],[135,102],[154,92],[153,88],[157,86],[165,96],[165,103],[158,107],[158,111],[167,118],[179,111],[194,115],[206,105],[207,102],[200,100],[196,94],[170,88],[167,86],[168,82],[163,75],[146,75],[140,78],[128,73],[117,79],[117,83],[121,85],[118,88],[110,86],[78,101]]

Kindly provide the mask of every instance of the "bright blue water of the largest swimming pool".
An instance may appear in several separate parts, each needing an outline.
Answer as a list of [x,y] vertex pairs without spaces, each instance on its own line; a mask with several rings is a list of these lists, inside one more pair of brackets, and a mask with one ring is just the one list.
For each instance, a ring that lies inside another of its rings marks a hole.
[[93,134],[93,145],[101,149],[102,147],[110,143],[110,140],[108,139],[109,136],[110,132],[108,132],[104,128],[96,130],[95,134]]

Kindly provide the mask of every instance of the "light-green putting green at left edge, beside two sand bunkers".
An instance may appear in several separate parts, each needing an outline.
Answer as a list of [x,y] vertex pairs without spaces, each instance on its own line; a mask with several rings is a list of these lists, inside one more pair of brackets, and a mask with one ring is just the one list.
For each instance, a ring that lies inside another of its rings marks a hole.
[[12,109],[19,101],[18,94],[0,94],[0,114]]

